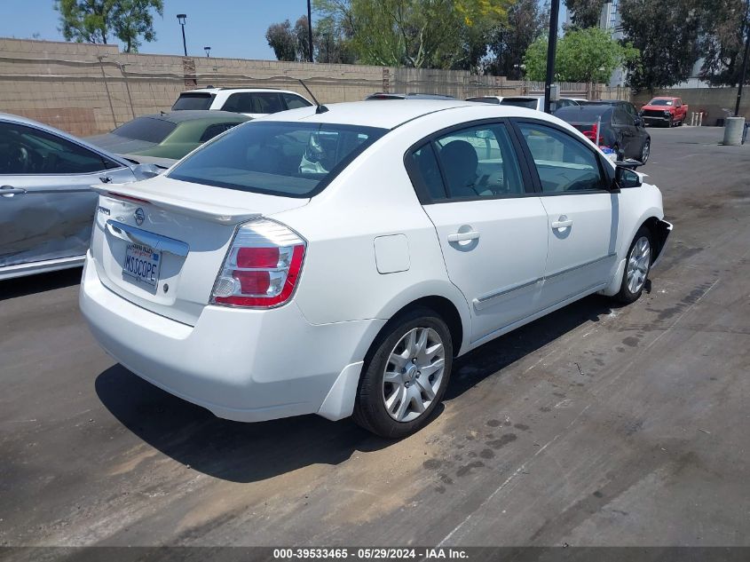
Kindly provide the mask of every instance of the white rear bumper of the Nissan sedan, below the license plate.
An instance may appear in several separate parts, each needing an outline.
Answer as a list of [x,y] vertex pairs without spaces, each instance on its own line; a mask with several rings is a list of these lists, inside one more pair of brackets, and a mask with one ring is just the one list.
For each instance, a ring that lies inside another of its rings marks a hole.
[[[83,316],[99,344],[136,375],[237,421],[351,414],[351,378],[359,376],[359,362],[384,321],[313,325],[292,303],[268,311],[206,306],[195,326],[187,326],[116,295],[90,265],[87,259]],[[335,386],[345,395],[332,392]],[[335,408],[329,394],[336,395]]]

